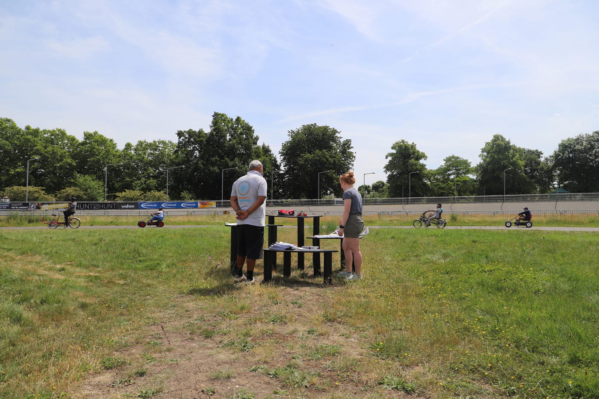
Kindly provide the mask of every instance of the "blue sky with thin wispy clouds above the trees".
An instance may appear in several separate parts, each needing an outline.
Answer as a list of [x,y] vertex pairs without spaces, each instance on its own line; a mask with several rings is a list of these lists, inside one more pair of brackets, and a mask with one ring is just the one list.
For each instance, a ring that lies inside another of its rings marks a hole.
[[[599,2],[0,0],[0,117],[119,148],[239,115],[351,139],[385,180],[406,139],[429,168],[501,134],[553,153],[599,130]],[[360,184],[362,178],[358,178]]]

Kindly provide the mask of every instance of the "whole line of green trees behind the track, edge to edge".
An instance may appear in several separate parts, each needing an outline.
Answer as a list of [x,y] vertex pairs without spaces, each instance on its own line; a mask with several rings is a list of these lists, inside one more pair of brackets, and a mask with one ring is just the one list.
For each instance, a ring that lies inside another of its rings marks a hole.
[[[214,112],[209,130],[179,130],[177,142],[116,142],[98,132],[83,139],[63,129],[21,128],[0,118],[0,191],[13,201],[66,200],[214,200],[227,199],[232,182],[253,159],[265,165],[269,196],[316,199],[341,196],[338,177],[353,169],[352,141],[329,126],[305,124],[289,130],[279,159],[259,144],[253,127],[241,117]],[[427,156],[401,139],[386,154],[386,181],[360,185],[371,197],[470,196],[548,193],[559,186],[573,192],[599,191],[599,131],[559,143],[553,154],[518,147],[494,135],[472,166],[448,156],[428,169]],[[29,173],[27,161],[29,160]],[[168,174],[168,183],[167,183]],[[28,176],[27,176],[28,175]]]

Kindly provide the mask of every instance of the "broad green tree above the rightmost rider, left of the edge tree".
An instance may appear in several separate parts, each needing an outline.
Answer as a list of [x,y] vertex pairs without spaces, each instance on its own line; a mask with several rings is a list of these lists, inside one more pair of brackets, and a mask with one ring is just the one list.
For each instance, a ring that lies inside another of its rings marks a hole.
[[[545,185],[541,151],[518,147],[502,135],[494,135],[480,152],[474,167],[478,193],[487,195],[539,193]],[[509,169],[509,170],[506,170]],[[505,171],[505,181],[504,181]]]

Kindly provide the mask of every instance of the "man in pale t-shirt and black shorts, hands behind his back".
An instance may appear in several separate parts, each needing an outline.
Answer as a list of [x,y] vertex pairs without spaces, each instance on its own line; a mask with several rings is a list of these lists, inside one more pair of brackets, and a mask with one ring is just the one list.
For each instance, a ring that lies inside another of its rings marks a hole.
[[[237,270],[235,281],[254,284],[254,266],[256,259],[262,257],[264,246],[264,225],[266,224],[267,183],[264,177],[264,165],[253,160],[249,172],[233,184],[231,206],[237,216]],[[247,264],[247,277],[243,275],[243,264]]]

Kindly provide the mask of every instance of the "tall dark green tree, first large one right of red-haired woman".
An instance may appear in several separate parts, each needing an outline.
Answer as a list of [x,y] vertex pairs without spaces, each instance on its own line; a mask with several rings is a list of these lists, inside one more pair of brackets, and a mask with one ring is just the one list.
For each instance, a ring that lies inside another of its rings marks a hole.
[[[391,150],[393,152],[385,156],[385,159],[389,160],[385,165],[389,197],[401,197],[402,191],[404,196],[408,196],[409,191],[412,197],[428,195],[429,173],[426,165],[421,162],[427,159],[426,154],[419,151],[415,143],[406,140],[396,141],[391,145]],[[418,173],[413,173],[410,179],[410,172]]]

